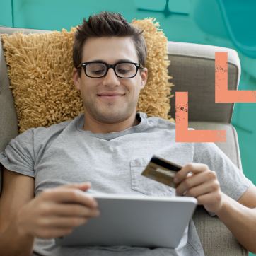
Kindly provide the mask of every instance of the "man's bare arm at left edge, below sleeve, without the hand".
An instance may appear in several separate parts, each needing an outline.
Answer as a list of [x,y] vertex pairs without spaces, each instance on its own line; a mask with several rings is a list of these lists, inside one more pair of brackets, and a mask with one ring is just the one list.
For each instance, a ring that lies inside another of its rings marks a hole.
[[4,168],[0,197],[0,256],[32,255],[35,238],[22,235],[16,227],[16,213],[35,197],[33,177]]

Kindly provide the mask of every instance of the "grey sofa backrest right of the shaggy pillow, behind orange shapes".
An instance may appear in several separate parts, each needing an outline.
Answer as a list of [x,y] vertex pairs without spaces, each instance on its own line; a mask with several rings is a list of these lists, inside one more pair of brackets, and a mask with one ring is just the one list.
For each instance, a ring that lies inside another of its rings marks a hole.
[[[240,60],[233,49],[186,42],[168,42],[170,81],[176,91],[188,92],[188,120],[231,123],[234,103],[215,103],[215,52],[228,52],[228,90],[237,90]],[[175,98],[170,98],[175,118]]]

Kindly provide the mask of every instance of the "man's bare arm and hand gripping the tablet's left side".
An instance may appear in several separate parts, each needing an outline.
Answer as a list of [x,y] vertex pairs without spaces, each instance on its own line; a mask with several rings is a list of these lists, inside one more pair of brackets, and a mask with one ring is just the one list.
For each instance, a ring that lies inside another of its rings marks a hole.
[[42,191],[35,197],[34,178],[4,168],[0,197],[0,256],[32,255],[35,237],[70,234],[76,226],[99,216],[98,203],[84,193],[91,185],[72,183]]

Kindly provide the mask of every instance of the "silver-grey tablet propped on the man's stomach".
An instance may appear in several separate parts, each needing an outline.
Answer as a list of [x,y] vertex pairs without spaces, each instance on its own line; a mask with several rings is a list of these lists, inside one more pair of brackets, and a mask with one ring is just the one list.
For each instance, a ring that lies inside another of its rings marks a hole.
[[98,201],[100,216],[90,218],[63,238],[55,238],[56,245],[176,248],[197,206],[194,197],[93,197]]

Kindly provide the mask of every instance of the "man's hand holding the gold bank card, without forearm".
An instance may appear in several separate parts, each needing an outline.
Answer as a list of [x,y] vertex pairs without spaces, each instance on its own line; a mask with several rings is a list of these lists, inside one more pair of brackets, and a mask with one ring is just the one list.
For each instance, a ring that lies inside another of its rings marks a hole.
[[[192,174],[190,174],[192,172]],[[188,163],[178,173],[174,181],[180,183],[176,188],[177,196],[196,197],[207,211],[216,213],[223,205],[216,173],[203,163]]]

